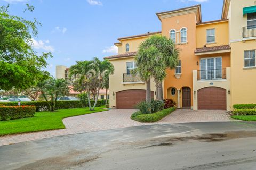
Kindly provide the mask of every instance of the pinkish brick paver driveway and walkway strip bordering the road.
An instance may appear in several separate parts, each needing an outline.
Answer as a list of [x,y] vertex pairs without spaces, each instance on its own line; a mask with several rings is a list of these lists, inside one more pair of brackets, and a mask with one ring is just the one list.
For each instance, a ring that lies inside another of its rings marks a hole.
[[131,120],[130,117],[133,112],[135,112],[134,109],[117,109],[106,112],[98,112],[65,118],[63,119],[63,123],[65,124],[66,129],[24,133],[0,137],[0,146],[30,140],[51,138],[60,135],[107,130],[114,128],[124,128],[139,125],[230,121],[230,117],[226,111],[192,111],[189,109],[177,109],[177,111],[174,111],[159,122],[140,123]]

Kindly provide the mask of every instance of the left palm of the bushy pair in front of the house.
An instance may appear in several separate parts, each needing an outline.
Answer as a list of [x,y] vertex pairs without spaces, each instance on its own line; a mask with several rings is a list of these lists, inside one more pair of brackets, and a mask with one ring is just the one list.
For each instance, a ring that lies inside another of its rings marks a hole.
[[[165,72],[165,62],[159,49],[153,45],[148,45],[148,39],[142,42],[139,46],[135,62],[137,68],[133,70],[133,74],[137,74],[142,80],[146,81],[146,101],[151,100],[150,79],[156,74]],[[155,79],[158,81],[158,79]]]

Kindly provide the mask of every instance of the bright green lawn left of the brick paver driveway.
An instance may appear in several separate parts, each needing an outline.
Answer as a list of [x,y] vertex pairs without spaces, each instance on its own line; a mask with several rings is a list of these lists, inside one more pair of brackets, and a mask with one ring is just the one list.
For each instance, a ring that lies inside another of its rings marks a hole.
[[71,116],[90,114],[104,111],[105,106],[96,107],[95,111],[89,108],[62,109],[56,112],[36,112],[34,117],[10,121],[0,121],[0,136],[26,132],[36,132],[53,129],[64,129],[62,119]]

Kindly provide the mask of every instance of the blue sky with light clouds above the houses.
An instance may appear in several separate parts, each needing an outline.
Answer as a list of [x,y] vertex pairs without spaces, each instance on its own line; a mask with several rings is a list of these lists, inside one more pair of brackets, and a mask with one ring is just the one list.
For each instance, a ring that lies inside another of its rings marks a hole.
[[[115,55],[117,38],[161,31],[156,12],[202,5],[203,21],[221,18],[223,0],[0,0],[10,13],[41,22],[34,37],[38,52],[52,52],[45,69],[55,76],[56,65]],[[26,3],[33,13],[23,13]]]

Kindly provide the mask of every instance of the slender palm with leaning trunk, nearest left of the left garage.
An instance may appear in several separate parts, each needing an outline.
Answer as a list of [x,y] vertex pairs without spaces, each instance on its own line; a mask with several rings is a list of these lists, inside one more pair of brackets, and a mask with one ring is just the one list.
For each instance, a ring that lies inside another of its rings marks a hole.
[[100,94],[100,88],[102,87],[103,78],[106,76],[106,74],[113,74],[114,73],[114,66],[112,63],[110,63],[108,60],[99,60],[99,58],[95,57],[92,61],[92,67],[95,70],[95,73],[98,77],[98,92],[97,97],[94,101],[93,110],[97,104],[98,97]]

